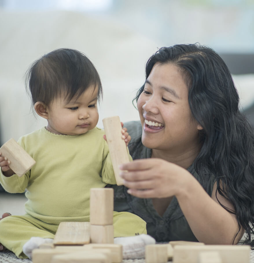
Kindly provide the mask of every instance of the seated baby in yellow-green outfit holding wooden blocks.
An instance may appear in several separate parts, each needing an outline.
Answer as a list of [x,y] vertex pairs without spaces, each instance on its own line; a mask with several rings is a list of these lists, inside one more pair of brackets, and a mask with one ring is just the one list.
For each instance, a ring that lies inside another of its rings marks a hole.
[[[0,153],[1,185],[11,193],[27,190],[28,199],[25,215],[0,221],[0,243],[31,259],[33,249],[53,241],[60,222],[89,221],[90,188],[116,181],[104,131],[96,127],[102,85],[92,62],[77,50],[57,49],[36,60],[26,77],[34,109],[47,127],[19,138],[36,161],[22,177]],[[122,134],[128,145],[126,128]],[[146,234],[146,223],[134,214],[114,212],[113,225],[115,242],[127,250],[137,238],[142,251],[154,243],[148,235],[135,236]]]

